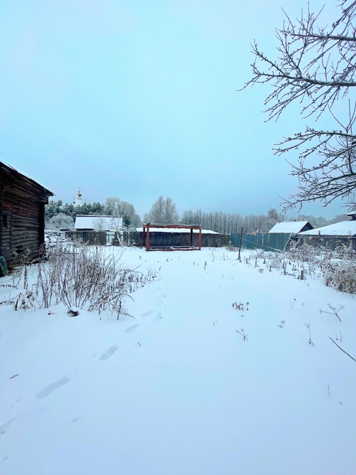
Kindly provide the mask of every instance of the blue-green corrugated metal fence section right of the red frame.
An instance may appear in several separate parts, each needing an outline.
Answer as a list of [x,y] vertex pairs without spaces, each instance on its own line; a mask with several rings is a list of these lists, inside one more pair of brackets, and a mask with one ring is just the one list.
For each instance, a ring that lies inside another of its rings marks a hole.
[[[231,234],[231,244],[240,245],[240,234]],[[242,234],[242,247],[247,249],[263,249],[265,251],[283,251],[288,242],[292,240],[291,234],[285,233],[256,233]]]

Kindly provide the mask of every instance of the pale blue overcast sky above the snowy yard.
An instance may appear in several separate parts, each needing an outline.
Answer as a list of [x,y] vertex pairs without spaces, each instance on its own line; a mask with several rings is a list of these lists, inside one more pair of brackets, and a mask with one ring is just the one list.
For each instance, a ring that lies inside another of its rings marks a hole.
[[[161,194],[178,213],[278,208],[297,181],[271,149],[306,121],[295,108],[265,123],[266,87],[236,90],[251,77],[250,43],[273,55],[281,8],[296,17],[305,5],[1,0],[0,157],[55,199],[81,187],[88,202],[117,196],[141,217]],[[302,213],[332,217],[341,204]]]

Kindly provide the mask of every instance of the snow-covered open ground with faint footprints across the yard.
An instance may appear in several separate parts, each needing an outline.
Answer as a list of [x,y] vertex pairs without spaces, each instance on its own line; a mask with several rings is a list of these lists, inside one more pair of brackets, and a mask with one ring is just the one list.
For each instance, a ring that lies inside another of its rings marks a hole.
[[356,300],[251,254],[125,248],[134,318],[1,305],[0,474],[356,474]]

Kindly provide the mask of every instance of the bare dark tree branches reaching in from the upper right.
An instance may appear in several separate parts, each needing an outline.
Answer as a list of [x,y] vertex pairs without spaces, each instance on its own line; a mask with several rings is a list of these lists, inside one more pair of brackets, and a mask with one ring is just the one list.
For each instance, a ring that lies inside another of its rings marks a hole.
[[275,30],[277,59],[267,57],[256,41],[252,45],[253,77],[244,88],[258,83],[272,87],[265,100],[267,120],[277,120],[297,103],[304,118],[313,116],[316,123],[323,114],[331,124],[329,130],[306,125],[304,132],[276,144],[277,155],[299,154],[297,163],[290,163],[299,187],[285,199],[285,210],[312,200],[326,206],[336,197],[348,197],[348,205],[355,205],[350,196],[356,190],[356,102],[349,93],[356,86],[356,1],[336,1],[340,10],[330,27],[318,26],[320,12],[309,7],[295,23],[286,14],[282,29]]

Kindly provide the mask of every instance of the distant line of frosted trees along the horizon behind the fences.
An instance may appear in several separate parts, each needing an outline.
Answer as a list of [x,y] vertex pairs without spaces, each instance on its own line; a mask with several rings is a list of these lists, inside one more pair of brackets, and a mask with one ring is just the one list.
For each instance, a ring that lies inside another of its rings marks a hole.
[[[133,203],[121,198],[106,198],[105,203],[71,204],[61,200],[52,200],[45,207],[45,223],[47,229],[73,229],[77,215],[113,216],[122,218],[123,227],[127,230],[142,226],[142,220],[135,212]],[[169,196],[162,195],[152,204],[150,210],[143,215],[143,223],[159,224],[197,224],[203,229],[215,231],[220,234],[240,233],[243,227],[244,233],[267,233],[276,223],[281,221],[309,221],[314,227],[326,226],[345,220],[345,215],[338,215],[332,220],[322,216],[315,218],[312,215],[299,214],[295,217],[287,217],[278,214],[275,208],[270,208],[267,214],[223,213],[222,211],[205,212],[201,209],[195,211],[185,210],[181,217],[178,216],[177,204]],[[115,221],[115,220],[114,220]],[[117,220],[115,223],[121,223]],[[121,224],[120,224],[121,225]],[[116,226],[116,225],[115,225]]]

